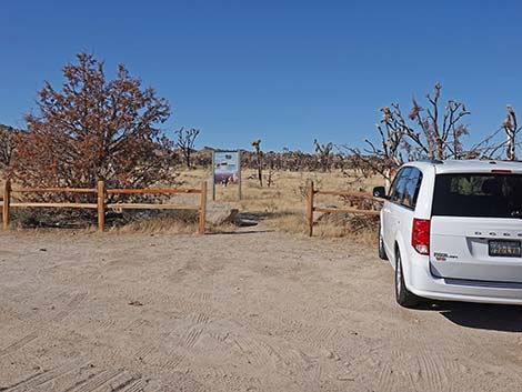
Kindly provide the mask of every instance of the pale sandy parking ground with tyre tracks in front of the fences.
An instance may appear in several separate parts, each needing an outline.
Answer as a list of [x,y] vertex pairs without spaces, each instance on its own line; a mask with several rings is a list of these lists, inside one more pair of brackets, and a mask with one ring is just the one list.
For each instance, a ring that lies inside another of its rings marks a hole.
[[373,249],[0,233],[0,391],[518,391],[520,308],[399,308]]

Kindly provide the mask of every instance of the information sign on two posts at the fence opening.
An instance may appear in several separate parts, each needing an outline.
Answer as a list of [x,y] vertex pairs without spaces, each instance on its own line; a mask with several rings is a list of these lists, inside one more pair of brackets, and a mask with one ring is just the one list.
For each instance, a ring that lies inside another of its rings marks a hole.
[[212,152],[212,200],[215,200],[215,185],[238,184],[241,200],[241,153],[239,150],[214,150]]

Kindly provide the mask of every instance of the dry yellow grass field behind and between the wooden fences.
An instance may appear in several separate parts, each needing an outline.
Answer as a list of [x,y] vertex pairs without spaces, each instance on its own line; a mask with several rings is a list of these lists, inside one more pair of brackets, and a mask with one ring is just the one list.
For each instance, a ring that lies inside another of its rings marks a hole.
[[[198,168],[192,170],[179,170],[177,173],[177,188],[200,188],[201,182],[207,181],[209,205],[213,203],[219,205],[224,204],[228,208],[239,210],[240,217],[248,219],[252,223],[263,222],[264,225],[270,227],[272,230],[293,234],[304,234],[305,232],[307,181],[312,180],[315,189],[338,191],[371,191],[372,187],[381,185],[384,182],[383,179],[378,175],[368,179],[358,179],[355,173],[351,171],[274,171],[270,187],[267,185],[267,173],[264,173],[264,183],[263,187],[261,187],[255,177],[255,170],[245,169],[242,174],[241,200],[238,199],[238,185],[217,185],[217,198],[215,202],[213,202],[210,169]],[[158,187],[169,188],[172,185],[159,184]],[[20,195],[13,193],[12,198],[14,201],[18,201]],[[170,197],[169,201],[197,205],[199,203],[199,197],[179,194]],[[345,200],[332,195],[318,195],[315,203],[339,208],[347,205]],[[11,229],[27,230],[40,228],[48,230],[56,227],[73,228],[77,231],[96,231],[96,221],[93,219],[71,222],[71,218],[66,214],[62,220],[57,220],[56,218],[61,217],[63,211],[63,209],[13,209],[11,213]],[[358,218],[333,214],[331,217],[323,217],[315,221],[314,235],[323,238],[349,237],[358,242],[373,244],[377,241],[375,219],[370,221],[371,224],[367,224],[367,218],[368,217],[364,215]],[[209,223],[207,229],[209,232],[217,233],[233,232],[237,230],[237,224],[233,224],[233,222],[225,222],[219,225]],[[150,232],[190,234],[195,232],[198,227],[195,212],[167,211],[152,215],[137,213],[135,218],[132,217],[132,219],[123,223],[111,224],[109,222],[107,230],[121,233]]]

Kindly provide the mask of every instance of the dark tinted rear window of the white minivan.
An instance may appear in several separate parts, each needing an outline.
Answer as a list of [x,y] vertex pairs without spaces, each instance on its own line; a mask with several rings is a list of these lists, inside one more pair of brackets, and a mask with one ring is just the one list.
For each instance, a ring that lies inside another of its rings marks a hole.
[[522,218],[522,174],[438,174],[432,215]]

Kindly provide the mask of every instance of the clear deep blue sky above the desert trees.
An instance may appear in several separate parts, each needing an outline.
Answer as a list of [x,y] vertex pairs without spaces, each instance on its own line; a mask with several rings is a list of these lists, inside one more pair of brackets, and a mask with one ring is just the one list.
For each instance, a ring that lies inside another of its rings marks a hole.
[[0,123],[23,128],[79,51],[124,63],[169,99],[167,132],[199,147],[362,145],[378,109],[433,84],[466,102],[471,140],[522,115],[516,1],[3,1]]

